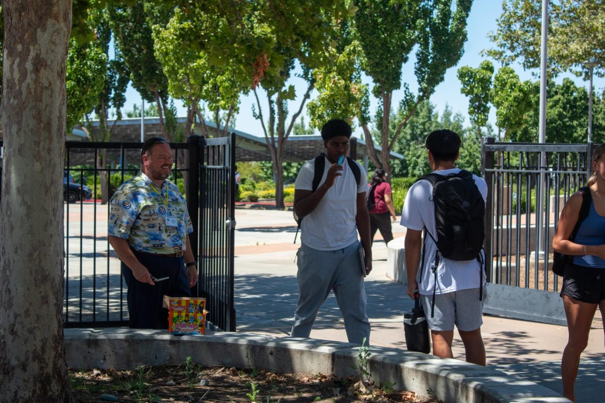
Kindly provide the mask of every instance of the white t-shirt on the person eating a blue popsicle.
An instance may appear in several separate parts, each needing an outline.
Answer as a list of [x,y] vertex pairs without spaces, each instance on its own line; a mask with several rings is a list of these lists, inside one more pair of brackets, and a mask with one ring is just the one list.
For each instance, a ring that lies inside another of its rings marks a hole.
[[[359,186],[355,175],[348,167],[345,159],[342,163],[342,176],[337,176],[334,185],[325,193],[315,210],[302,219],[301,242],[309,248],[320,251],[335,251],[346,248],[357,240],[357,194],[368,189],[368,178],[363,167],[359,167],[361,177]],[[325,182],[325,177],[332,163],[325,158],[324,175],[319,186]],[[313,175],[315,173],[315,158],[303,164],[294,182],[295,190],[313,190]]]

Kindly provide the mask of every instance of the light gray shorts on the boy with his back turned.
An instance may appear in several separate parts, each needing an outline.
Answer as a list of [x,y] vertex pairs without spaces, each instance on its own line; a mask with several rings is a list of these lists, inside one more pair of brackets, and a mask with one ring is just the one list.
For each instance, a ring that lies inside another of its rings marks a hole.
[[483,301],[487,298],[483,288],[483,300],[479,301],[479,288],[462,289],[435,295],[435,313],[431,318],[433,294],[420,295],[420,302],[427,315],[428,328],[431,330],[458,330],[470,332],[483,324]]

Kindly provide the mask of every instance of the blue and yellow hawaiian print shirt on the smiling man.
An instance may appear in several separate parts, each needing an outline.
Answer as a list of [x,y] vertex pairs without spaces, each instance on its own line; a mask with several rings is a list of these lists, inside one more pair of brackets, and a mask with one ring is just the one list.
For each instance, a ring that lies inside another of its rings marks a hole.
[[111,197],[108,233],[126,239],[134,250],[159,254],[185,250],[186,236],[192,232],[185,198],[168,179],[159,189],[140,172]]

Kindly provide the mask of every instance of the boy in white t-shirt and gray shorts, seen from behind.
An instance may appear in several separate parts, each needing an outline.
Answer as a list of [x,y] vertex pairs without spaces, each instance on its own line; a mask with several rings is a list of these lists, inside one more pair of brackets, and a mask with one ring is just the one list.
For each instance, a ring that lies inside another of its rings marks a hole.
[[[459,135],[446,129],[428,135],[425,146],[433,172],[444,175],[460,171],[455,163],[460,156],[461,143]],[[485,200],[485,181],[477,176],[473,178]],[[435,283],[432,268],[436,245],[427,236],[424,267],[419,269],[422,261],[422,230],[426,227],[432,231],[433,237],[437,236],[432,194],[433,185],[428,181],[419,181],[410,187],[405,198],[401,225],[408,228],[405,233],[407,292],[410,298],[419,297],[422,302],[428,328],[431,329],[433,355],[453,358],[451,346],[455,326],[465,347],[466,361],[485,366],[485,345],[481,336],[483,301],[480,300],[485,272],[483,269],[480,271],[479,262],[476,259],[463,262],[440,259]]]

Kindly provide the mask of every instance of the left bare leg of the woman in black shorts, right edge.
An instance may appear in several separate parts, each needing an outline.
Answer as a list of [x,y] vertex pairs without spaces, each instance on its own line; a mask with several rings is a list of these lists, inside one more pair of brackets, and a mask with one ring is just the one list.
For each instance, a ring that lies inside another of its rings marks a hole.
[[[603,302],[601,305],[604,305]],[[581,302],[563,295],[563,306],[567,317],[569,339],[561,359],[561,378],[563,378],[563,396],[575,402],[574,382],[580,366],[580,355],[588,344],[588,334],[597,304]],[[605,305],[604,305],[605,306]],[[601,309],[603,314],[603,309]]]

